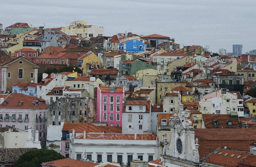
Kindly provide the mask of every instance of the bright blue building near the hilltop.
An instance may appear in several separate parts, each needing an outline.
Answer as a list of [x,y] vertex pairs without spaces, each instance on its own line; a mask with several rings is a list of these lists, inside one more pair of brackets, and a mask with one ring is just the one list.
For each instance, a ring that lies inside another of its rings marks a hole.
[[119,50],[130,54],[140,53],[145,51],[145,44],[136,39],[125,40],[119,43]]

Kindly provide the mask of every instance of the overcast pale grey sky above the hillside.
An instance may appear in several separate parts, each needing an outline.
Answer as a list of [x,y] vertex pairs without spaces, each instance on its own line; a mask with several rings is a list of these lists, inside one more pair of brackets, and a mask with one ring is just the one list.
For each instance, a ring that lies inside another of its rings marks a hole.
[[255,9],[255,0],[15,0],[1,3],[0,23],[30,21],[53,28],[83,20],[103,26],[105,36],[156,33],[175,38],[180,47],[208,45],[212,52],[232,52],[233,44],[242,44],[244,53],[256,49]]

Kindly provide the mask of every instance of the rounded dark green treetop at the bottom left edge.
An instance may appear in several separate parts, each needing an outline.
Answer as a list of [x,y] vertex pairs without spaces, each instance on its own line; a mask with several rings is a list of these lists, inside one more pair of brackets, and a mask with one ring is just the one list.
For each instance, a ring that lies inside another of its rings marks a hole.
[[64,159],[60,153],[51,149],[37,149],[25,152],[20,156],[14,167],[42,167],[41,163]]

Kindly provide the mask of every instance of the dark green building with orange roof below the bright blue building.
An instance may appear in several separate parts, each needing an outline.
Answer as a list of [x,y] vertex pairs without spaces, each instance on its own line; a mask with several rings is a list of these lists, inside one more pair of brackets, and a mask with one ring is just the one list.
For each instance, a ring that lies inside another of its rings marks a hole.
[[156,69],[156,67],[148,64],[145,60],[137,59],[137,55],[133,55],[132,60],[126,60],[125,54],[121,55],[119,71],[123,71],[124,75],[136,75],[136,71],[142,69]]

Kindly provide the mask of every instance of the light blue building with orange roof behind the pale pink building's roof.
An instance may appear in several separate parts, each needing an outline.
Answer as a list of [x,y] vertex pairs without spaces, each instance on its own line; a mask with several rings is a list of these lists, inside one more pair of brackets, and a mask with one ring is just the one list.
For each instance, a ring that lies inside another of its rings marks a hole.
[[36,97],[36,86],[37,83],[18,83],[12,86],[12,92]]

